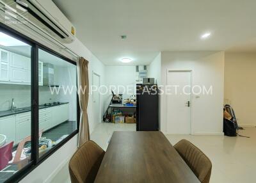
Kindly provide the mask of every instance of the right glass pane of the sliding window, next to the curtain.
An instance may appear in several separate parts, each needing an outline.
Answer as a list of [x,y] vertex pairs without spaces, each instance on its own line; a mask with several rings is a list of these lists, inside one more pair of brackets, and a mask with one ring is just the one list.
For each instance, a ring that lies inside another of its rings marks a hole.
[[76,78],[76,65],[39,49],[39,157],[77,129]]

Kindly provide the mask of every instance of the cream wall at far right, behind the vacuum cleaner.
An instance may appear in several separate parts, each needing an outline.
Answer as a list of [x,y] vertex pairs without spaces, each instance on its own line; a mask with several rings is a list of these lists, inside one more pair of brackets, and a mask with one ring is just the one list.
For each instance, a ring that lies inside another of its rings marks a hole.
[[255,126],[255,53],[225,53],[225,103],[230,103],[242,126]]

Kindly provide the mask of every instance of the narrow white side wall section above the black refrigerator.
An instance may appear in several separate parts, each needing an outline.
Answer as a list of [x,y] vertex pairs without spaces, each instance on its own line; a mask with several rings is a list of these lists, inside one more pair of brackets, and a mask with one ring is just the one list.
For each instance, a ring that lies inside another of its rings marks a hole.
[[155,83],[161,84],[161,52],[148,65],[148,77],[155,78]]

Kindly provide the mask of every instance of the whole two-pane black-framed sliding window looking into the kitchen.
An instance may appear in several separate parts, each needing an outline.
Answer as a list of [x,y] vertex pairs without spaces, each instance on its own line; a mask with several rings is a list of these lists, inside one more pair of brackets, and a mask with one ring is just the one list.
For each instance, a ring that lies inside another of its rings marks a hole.
[[76,62],[0,26],[0,182],[17,182],[78,132]]

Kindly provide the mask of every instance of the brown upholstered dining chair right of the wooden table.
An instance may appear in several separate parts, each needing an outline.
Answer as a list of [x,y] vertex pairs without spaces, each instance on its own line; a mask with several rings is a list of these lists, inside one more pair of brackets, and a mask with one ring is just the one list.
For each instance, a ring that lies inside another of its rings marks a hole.
[[188,164],[200,182],[209,183],[212,170],[211,160],[186,139],[179,141],[174,145],[174,148],[179,152],[182,159]]

